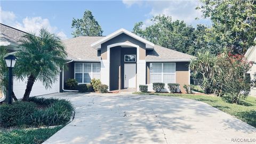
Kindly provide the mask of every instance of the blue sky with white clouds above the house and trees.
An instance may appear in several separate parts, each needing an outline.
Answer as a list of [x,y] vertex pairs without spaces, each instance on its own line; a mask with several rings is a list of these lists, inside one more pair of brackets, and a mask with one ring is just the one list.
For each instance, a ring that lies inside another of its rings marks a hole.
[[210,25],[207,20],[195,20],[201,12],[195,10],[199,1],[1,1],[1,23],[37,32],[46,27],[63,39],[71,38],[73,18],[82,18],[84,10],[92,11],[103,29],[103,35],[125,28],[132,30],[134,23],[151,25],[150,18],[166,14],[184,20],[188,25]]

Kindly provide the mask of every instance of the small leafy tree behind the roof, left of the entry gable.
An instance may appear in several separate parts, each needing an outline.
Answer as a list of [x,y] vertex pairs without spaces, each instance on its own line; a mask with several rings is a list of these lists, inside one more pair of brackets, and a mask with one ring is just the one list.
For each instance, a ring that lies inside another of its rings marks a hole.
[[98,21],[92,15],[92,12],[85,10],[82,19],[73,18],[71,33],[74,37],[78,36],[102,36],[103,30]]

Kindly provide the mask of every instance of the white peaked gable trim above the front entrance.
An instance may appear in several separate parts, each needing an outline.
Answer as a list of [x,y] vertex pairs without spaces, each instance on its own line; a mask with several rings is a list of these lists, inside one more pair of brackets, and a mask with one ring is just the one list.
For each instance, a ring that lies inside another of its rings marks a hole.
[[91,47],[93,47],[94,49],[100,49],[102,43],[105,43],[105,42],[109,41],[109,39],[112,39],[112,38],[114,38],[114,37],[116,37],[116,36],[118,36],[118,35],[120,35],[120,34],[123,34],[123,33],[126,34],[126,35],[129,35],[129,36],[131,36],[131,37],[133,37],[133,38],[135,38],[135,39],[137,39],[138,41],[140,41],[140,42],[142,42],[142,43],[145,43],[145,44],[146,44],[146,48],[148,48],[148,49],[154,49],[155,44],[153,44],[153,43],[147,41],[147,40],[144,39],[144,38],[139,37],[138,35],[135,35],[135,34],[131,33],[130,31],[128,31],[128,30],[126,30],[126,29],[124,29],[124,28],[121,28],[121,29],[115,31],[115,32],[112,33],[112,34],[109,34],[109,35],[107,35],[106,37],[103,37],[103,38],[100,39],[99,41],[92,43],[92,44],[91,44]]

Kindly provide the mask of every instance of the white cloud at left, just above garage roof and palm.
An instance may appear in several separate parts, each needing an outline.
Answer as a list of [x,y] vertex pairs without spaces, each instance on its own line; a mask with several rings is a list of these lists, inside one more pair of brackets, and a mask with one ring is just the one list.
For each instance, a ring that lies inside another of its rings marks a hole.
[[[22,20],[22,22],[18,22],[15,18],[15,14],[10,11],[3,11],[0,7],[1,13],[1,23],[9,25],[11,27],[20,29],[26,32],[36,33],[38,35],[39,30],[41,28],[46,28],[51,33],[56,33],[60,38],[67,39],[67,35],[63,31],[59,31],[57,27],[51,26],[49,19],[43,19],[42,17],[26,17]],[[5,18],[4,14],[11,15],[10,18]],[[3,17],[3,19],[2,19]]]

